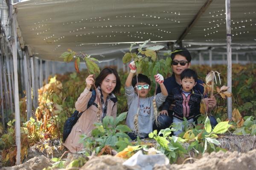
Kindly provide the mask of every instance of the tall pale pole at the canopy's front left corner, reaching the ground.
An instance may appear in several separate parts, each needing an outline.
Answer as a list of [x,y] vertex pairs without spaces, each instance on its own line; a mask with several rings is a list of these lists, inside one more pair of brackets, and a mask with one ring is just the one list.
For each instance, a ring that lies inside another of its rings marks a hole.
[[[12,9],[12,5],[10,5]],[[13,57],[13,71],[14,71],[14,87],[15,87],[15,136],[17,145],[16,163],[20,164],[20,106],[19,106],[19,85],[18,85],[18,72],[17,72],[17,29],[16,29],[16,12],[12,18],[13,26],[13,39],[12,39],[12,57]]]

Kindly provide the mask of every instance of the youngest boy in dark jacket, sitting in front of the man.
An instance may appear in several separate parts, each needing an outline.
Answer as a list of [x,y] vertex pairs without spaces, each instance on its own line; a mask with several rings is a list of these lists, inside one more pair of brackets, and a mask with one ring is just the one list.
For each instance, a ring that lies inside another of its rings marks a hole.
[[[196,85],[198,80],[197,73],[192,69],[184,69],[180,75],[181,86],[172,89],[169,93],[166,101],[163,104],[162,110],[166,111],[169,109],[170,104],[175,101],[173,107],[173,123],[180,124],[182,130],[184,125],[184,117],[189,123],[193,123],[194,118],[200,114],[200,102],[202,95],[193,87]],[[174,135],[179,135],[182,130],[174,132]]]

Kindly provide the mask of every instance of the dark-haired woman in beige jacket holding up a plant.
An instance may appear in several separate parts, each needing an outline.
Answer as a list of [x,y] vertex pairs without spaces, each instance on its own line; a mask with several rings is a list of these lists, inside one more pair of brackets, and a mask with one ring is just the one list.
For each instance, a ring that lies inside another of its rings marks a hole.
[[[97,94],[99,94],[100,97],[96,95],[95,102],[88,109],[87,104],[92,96],[91,87],[94,81],[93,75],[89,75],[85,81],[86,88],[75,104],[76,110],[83,113],[64,142],[64,146],[72,153],[83,149],[83,144],[79,143],[80,135],[86,134],[90,136],[91,131],[94,129],[93,124],[95,122],[102,121],[106,115],[116,117],[117,99],[113,93],[119,92],[121,86],[120,78],[116,70],[105,68],[100,72],[95,80]],[[98,102],[101,102],[101,112],[98,112]]]

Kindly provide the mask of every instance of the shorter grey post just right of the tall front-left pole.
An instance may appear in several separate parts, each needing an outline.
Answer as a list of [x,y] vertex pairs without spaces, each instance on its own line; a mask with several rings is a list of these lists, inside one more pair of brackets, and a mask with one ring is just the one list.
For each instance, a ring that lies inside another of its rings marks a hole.
[[26,72],[27,72],[27,89],[26,89],[26,103],[27,103],[27,121],[32,116],[32,90],[31,90],[31,67],[29,62],[28,47],[25,46],[25,61],[26,61]]

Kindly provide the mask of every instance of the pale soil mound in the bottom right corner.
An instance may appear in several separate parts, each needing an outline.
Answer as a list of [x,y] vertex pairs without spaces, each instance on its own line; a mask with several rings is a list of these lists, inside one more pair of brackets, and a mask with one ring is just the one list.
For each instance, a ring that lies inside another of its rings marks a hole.
[[193,164],[155,166],[154,170],[256,170],[256,150],[247,153],[237,151],[205,153]]

